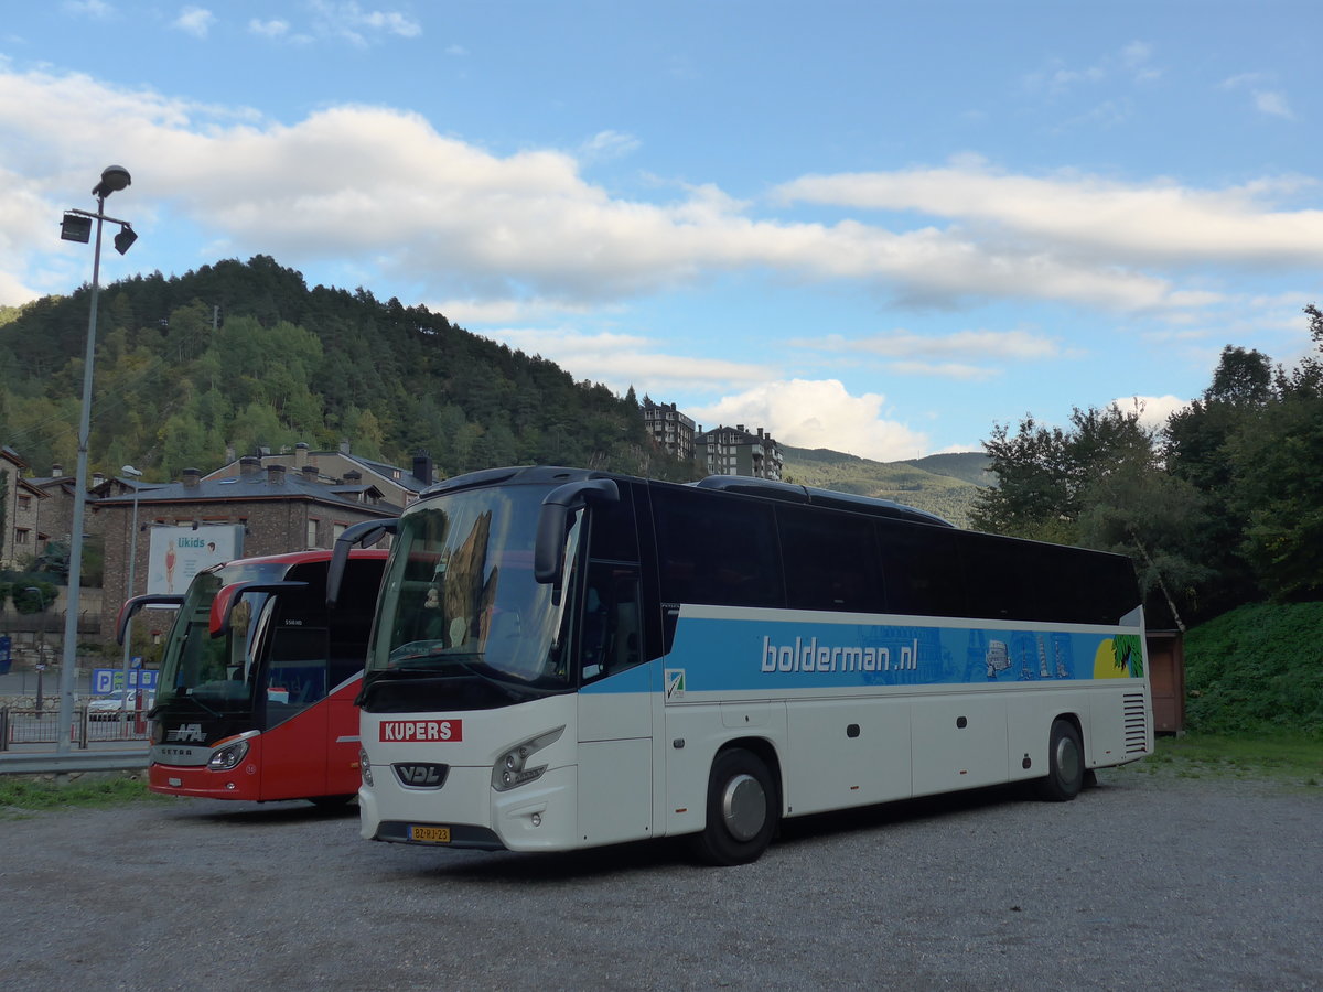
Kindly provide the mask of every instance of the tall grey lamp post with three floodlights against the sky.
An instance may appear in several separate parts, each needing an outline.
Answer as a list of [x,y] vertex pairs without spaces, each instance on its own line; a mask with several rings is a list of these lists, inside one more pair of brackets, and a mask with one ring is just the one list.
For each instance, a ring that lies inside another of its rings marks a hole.
[[[69,729],[74,722],[74,668],[78,664],[78,591],[82,586],[83,515],[87,504],[87,442],[91,434],[91,366],[97,354],[97,295],[101,288],[101,227],[103,221],[118,224],[115,247],[119,254],[128,251],[136,235],[128,221],[106,216],[106,197],[127,189],[132,183],[123,165],[108,165],[101,173],[101,183],[91,189],[97,197],[97,213],[65,210],[60,237],[65,241],[87,242],[91,221],[97,221],[97,247],[91,255],[91,308],[87,315],[87,353],[83,358],[82,414],[78,421],[78,468],[74,472],[74,517],[69,532],[69,606],[65,611],[65,644],[60,661],[60,733],[56,751],[69,751]],[[126,233],[128,237],[126,237]]]

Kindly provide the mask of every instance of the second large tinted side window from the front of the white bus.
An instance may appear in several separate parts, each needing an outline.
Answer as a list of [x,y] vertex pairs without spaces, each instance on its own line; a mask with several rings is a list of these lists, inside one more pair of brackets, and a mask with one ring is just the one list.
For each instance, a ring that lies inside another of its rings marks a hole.
[[778,507],[786,604],[792,610],[881,612],[873,521],[851,513]]

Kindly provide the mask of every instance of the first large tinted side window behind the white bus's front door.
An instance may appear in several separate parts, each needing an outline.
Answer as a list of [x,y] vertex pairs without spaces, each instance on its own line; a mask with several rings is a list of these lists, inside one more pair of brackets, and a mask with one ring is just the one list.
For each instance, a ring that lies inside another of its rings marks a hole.
[[664,602],[785,604],[771,504],[658,487],[652,508]]

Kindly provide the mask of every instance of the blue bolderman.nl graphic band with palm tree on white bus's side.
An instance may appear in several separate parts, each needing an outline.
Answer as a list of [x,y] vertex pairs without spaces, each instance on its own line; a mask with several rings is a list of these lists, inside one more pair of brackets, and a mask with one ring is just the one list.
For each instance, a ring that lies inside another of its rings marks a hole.
[[709,692],[1143,677],[1138,634],[826,622],[681,618],[668,660]]

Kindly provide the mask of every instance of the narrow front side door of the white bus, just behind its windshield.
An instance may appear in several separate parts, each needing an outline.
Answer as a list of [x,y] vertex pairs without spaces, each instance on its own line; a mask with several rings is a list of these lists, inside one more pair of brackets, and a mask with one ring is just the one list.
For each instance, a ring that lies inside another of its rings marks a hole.
[[582,586],[579,837],[613,844],[652,836],[651,667],[643,661],[639,566],[594,561]]

